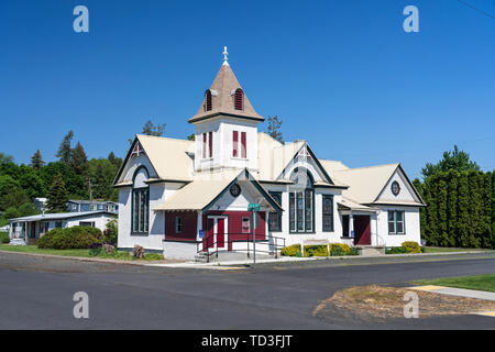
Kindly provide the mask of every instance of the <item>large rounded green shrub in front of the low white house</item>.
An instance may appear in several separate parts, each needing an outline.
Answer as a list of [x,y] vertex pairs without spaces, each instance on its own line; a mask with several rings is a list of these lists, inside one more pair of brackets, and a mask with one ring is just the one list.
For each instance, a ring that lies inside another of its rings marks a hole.
[[89,249],[95,242],[101,240],[102,234],[99,229],[90,227],[73,227],[51,230],[45,233],[36,244],[40,249]]

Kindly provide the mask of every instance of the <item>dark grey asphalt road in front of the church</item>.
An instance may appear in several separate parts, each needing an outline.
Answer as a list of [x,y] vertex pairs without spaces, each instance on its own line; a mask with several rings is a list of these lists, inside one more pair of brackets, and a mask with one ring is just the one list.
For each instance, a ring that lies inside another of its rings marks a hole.
[[[381,323],[311,316],[344,287],[495,272],[495,254],[449,258],[211,271],[0,253],[0,329],[495,329],[495,318],[481,316]],[[81,290],[89,295],[89,319],[73,317],[72,298]]]

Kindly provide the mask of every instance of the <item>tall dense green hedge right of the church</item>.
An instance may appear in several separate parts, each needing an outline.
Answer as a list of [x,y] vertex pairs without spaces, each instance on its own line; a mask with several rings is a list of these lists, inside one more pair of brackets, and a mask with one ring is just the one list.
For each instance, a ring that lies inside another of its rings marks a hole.
[[428,245],[495,249],[494,172],[439,172],[416,187]]

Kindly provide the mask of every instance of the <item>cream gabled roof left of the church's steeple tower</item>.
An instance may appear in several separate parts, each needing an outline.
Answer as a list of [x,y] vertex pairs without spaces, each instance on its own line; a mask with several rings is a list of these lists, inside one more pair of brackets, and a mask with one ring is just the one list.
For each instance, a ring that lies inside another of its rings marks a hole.
[[[117,174],[113,186],[123,186],[128,183],[119,183],[121,174],[125,168],[135,143],[141,143],[145,155],[150,160],[157,180],[193,180],[194,161],[188,155],[194,153],[195,142],[188,140],[168,139],[162,136],[136,134],[129,152]],[[170,167],[170,165],[174,165]]]

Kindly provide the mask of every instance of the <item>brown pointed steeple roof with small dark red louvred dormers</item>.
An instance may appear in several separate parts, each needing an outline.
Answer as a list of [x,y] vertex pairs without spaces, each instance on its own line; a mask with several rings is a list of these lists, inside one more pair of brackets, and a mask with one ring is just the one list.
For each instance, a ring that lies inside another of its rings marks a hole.
[[199,111],[189,119],[189,123],[194,123],[197,121],[206,120],[209,118],[213,118],[220,114],[223,116],[233,116],[238,118],[244,118],[250,120],[256,120],[258,122],[263,122],[265,119],[254,111],[253,106],[251,105],[248,96],[243,91],[243,109],[237,110],[234,108],[234,94],[235,90],[239,89],[241,85],[235,78],[235,75],[230,68],[229,63],[227,62],[227,56],[224,57],[224,62],[220,67],[220,70],[217,74],[217,77],[209,89],[211,91],[211,110],[206,110],[207,97],[205,94],[205,98],[202,100],[201,107]]

